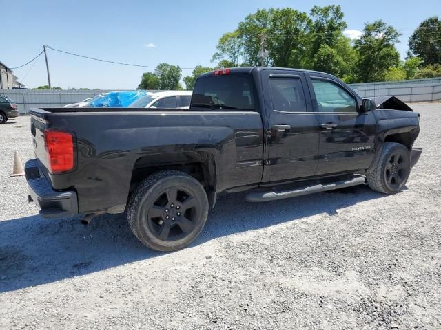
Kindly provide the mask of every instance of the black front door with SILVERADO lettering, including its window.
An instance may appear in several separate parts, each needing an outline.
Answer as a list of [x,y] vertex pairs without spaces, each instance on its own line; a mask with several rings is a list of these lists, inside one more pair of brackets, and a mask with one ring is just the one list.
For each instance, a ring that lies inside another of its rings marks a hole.
[[320,126],[316,175],[364,170],[374,156],[376,120],[359,113],[360,98],[338,80],[306,74]]

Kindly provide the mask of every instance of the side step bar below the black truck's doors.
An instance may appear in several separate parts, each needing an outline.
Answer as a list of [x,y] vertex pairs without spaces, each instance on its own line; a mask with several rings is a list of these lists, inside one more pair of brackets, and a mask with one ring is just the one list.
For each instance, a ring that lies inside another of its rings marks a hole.
[[250,192],[246,199],[251,202],[261,201],[276,201],[277,199],[285,199],[289,197],[298,197],[302,195],[314,194],[315,192],[323,192],[328,190],[334,190],[339,188],[346,188],[351,186],[357,186],[358,184],[364,184],[365,177],[352,177],[345,181],[336,181],[329,184],[315,184],[313,186],[305,186],[294,190],[283,191],[263,191],[263,192]]

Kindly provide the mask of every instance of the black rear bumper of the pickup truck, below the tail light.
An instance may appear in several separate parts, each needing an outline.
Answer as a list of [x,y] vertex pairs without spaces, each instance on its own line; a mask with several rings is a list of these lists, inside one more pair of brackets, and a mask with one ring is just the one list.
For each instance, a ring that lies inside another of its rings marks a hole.
[[28,181],[29,201],[33,201],[45,218],[59,218],[78,214],[78,198],[74,191],[56,191],[48,179],[41,175],[36,159],[25,165],[26,181]]

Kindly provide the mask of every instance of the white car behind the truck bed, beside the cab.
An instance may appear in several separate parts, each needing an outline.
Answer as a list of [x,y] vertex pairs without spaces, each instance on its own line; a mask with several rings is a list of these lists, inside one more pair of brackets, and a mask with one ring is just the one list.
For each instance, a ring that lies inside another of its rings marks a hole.
[[148,92],[147,95],[139,98],[130,108],[181,108],[189,109],[192,91],[158,91]]

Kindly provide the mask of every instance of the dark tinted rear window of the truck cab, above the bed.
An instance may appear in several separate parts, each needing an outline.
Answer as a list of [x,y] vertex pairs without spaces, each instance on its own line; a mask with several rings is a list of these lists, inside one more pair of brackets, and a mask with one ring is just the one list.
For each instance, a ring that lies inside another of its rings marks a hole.
[[199,78],[193,89],[192,107],[254,110],[254,87],[249,74]]

